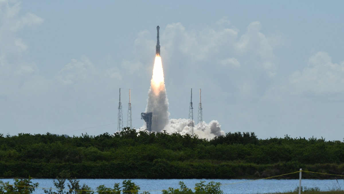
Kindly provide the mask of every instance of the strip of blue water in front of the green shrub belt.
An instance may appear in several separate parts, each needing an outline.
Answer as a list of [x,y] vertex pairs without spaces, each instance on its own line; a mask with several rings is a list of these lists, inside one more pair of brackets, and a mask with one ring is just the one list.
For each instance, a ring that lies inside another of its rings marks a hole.
[[[0,179],[3,182],[13,183],[13,179]],[[99,185],[105,185],[112,188],[114,183],[122,183],[124,179],[79,179],[80,185],[86,184],[93,190]],[[189,188],[193,188],[195,183],[205,181],[220,182],[221,190],[225,194],[259,194],[259,193],[277,193],[293,191],[299,186],[299,180],[247,180],[247,179],[132,179],[132,182],[139,185],[142,191],[148,191],[151,194],[161,194],[161,190],[167,190],[169,187],[179,188],[179,181],[183,181]],[[42,188],[55,188],[53,179],[33,179],[33,183],[38,182],[40,188],[36,188],[35,194],[43,194]],[[66,181],[68,182],[68,181]],[[344,189],[343,180],[309,180],[301,181],[302,187],[320,188],[321,191],[330,191],[337,188]],[[139,193],[140,193],[139,192]]]

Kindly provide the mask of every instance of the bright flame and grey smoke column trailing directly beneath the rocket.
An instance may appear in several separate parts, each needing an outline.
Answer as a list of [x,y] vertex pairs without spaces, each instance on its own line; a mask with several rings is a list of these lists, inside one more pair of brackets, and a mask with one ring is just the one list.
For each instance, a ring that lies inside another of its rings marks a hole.
[[152,112],[152,131],[160,132],[169,123],[168,99],[161,57],[155,56],[146,112]]

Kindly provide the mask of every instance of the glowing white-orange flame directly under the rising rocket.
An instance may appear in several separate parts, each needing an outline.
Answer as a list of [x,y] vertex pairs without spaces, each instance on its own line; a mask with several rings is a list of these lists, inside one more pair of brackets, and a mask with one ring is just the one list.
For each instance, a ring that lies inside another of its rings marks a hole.
[[165,89],[164,71],[162,69],[162,62],[160,56],[155,56],[153,76],[151,80],[151,88],[155,95],[159,95],[160,91]]

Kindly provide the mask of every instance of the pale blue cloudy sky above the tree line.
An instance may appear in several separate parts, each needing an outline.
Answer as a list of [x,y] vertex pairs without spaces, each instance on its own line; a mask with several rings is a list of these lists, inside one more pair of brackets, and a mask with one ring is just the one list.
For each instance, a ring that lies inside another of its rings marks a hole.
[[170,119],[344,139],[344,1],[0,0],[0,133],[144,125],[160,26]]

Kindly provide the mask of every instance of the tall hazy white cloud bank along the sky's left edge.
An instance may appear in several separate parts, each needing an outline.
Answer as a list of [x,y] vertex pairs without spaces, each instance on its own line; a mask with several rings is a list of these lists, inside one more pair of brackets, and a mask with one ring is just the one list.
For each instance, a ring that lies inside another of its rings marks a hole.
[[[0,2],[0,96],[36,96],[46,89],[46,79],[39,75],[34,62],[24,61],[28,45],[17,32],[29,26],[38,26],[44,20],[35,14],[20,16],[17,2]],[[40,82],[43,83],[40,83]]]

